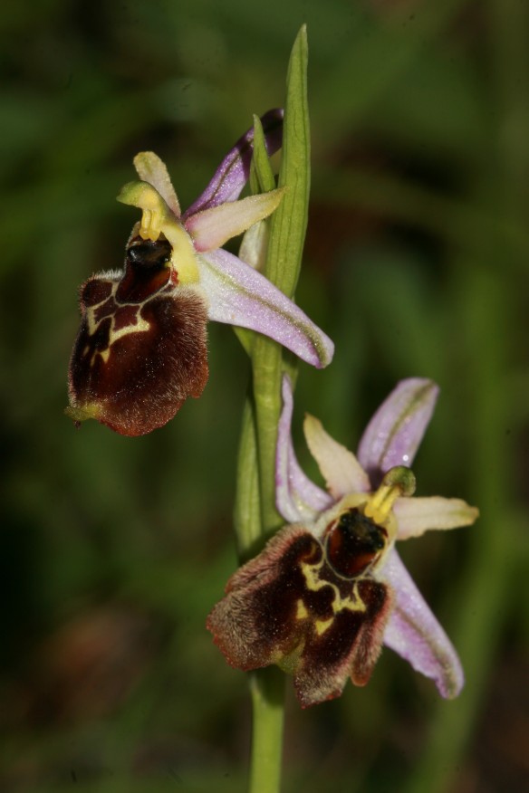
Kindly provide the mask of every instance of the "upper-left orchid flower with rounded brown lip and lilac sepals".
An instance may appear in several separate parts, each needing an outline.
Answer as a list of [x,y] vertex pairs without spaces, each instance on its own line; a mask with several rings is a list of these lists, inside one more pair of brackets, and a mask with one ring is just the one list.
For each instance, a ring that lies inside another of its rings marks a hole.
[[[281,145],[283,113],[263,117],[269,153]],[[204,193],[181,213],[163,162],[134,158],[139,181],[118,196],[141,210],[122,270],[82,285],[82,324],[70,362],[76,423],[96,418],[121,435],[165,425],[206,385],[207,320],[264,333],[315,367],[333,345],[292,301],[221,246],[271,215],[284,188],[238,199],[248,179],[254,130],[222,161]]]

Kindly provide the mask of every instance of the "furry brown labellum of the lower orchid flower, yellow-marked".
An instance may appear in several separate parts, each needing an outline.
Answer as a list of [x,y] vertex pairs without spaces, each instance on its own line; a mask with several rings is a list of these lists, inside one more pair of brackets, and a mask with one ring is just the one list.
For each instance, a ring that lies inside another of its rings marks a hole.
[[390,615],[390,588],[370,568],[386,530],[357,509],[342,513],[318,540],[287,526],[230,579],[207,620],[216,645],[237,669],[278,664],[293,674],[303,707],[364,685]]

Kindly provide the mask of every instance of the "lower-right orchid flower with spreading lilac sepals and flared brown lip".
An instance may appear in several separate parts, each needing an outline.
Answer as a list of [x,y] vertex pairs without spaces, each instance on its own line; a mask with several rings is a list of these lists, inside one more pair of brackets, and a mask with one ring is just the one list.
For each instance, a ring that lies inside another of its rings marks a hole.
[[470,525],[460,499],[411,498],[409,465],[438,387],[402,380],[370,420],[355,456],[306,416],[304,433],[327,483],[311,482],[291,439],[293,396],[284,378],[276,457],[277,508],[289,524],[230,578],[207,627],[229,664],[278,664],[303,707],[364,685],[382,645],[457,696],[463,672],[443,628],[399,559],[396,541]]

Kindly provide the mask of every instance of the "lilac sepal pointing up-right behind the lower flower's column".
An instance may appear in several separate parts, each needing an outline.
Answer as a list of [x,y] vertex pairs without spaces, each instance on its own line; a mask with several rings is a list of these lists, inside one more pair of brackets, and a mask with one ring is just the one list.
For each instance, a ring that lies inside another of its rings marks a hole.
[[411,465],[437,397],[438,386],[432,380],[409,377],[399,382],[371,418],[358,459],[374,487],[393,466]]

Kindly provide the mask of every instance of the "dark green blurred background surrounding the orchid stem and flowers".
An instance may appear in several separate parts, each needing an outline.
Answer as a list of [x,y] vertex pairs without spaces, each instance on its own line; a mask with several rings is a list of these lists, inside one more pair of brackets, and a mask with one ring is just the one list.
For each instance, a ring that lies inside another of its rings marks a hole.
[[40,0],[0,15],[0,789],[245,789],[249,704],[204,622],[236,565],[247,361],[210,328],[203,397],[148,437],[63,416],[77,290],[120,266],[114,196],[152,148],[182,205],[284,100],[310,44],[313,193],[298,301],[332,336],[304,410],[354,446],[401,377],[441,398],[418,491],[470,530],[404,558],[466,668],[440,702],[389,651],[301,712],[285,793],[527,789],[529,5],[524,0]]

